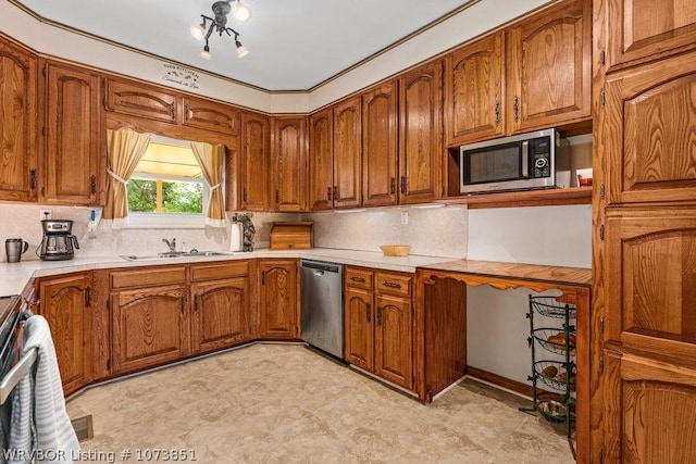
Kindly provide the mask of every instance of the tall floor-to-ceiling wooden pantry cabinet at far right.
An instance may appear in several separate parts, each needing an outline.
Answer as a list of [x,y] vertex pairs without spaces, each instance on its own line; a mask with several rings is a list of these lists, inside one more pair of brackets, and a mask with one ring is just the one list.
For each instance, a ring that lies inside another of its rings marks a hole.
[[592,462],[696,462],[696,9],[594,4]]

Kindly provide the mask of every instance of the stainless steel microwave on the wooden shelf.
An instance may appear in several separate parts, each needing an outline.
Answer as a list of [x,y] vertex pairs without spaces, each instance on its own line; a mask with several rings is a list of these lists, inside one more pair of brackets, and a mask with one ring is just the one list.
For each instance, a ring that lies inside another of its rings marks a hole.
[[556,186],[556,129],[471,143],[459,149],[462,193]]

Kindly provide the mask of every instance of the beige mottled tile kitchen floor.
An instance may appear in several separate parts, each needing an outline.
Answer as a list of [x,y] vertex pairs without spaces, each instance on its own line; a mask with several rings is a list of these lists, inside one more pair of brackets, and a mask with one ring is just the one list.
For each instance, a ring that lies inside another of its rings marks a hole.
[[83,450],[115,462],[178,449],[199,463],[573,463],[564,434],[521,404],[465,380],[424,405],[302,346],[254,344],[88,389],[67,410],[94,417]]

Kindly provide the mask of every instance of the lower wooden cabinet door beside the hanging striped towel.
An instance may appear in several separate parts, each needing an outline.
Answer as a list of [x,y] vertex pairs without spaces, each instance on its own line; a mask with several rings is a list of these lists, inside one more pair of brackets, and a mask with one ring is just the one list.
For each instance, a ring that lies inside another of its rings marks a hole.
[[39,314],[46,317],[65,394],[91,380],[91,276],[89,273],[41,279]]

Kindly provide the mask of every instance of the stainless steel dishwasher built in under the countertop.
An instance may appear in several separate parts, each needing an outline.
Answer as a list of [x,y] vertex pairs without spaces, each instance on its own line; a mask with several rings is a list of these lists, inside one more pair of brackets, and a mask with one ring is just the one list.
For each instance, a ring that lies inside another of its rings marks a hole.
[[344,266],[300,261],[300,337],[344,359]]

